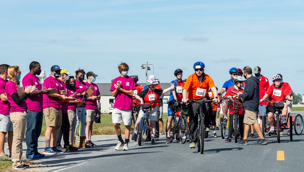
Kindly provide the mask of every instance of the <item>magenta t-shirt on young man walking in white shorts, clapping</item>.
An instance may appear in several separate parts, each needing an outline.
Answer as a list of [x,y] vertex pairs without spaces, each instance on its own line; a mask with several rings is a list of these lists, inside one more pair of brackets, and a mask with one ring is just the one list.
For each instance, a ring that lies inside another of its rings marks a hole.
[[[117,81],[121,81],[120,86],[124,90],[129,91],[131,89],[135,89],[133,78],[131,78],[130,76],[119,76],[114,79],[110,91],[114,91],[116,89],[114,84],[116,84]],[[118,91],[115,96],[114,108],[120,110],[132,110],[132,96],[126,95],[122,91]]]

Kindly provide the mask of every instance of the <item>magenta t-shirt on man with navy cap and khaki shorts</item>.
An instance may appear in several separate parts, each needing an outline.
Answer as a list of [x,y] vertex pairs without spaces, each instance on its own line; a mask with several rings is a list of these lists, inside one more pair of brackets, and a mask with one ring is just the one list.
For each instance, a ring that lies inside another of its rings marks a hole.
[[[60,90],[64,89],[62,83],[60,83],[58,79],[55,79],[52,76],[49,76],[44,80],[43,87],[56,89],[57,94],[60,94]],[[53,107],[57,110],[61,110],[61,105],[61,99],[43,94],[43,109]]]

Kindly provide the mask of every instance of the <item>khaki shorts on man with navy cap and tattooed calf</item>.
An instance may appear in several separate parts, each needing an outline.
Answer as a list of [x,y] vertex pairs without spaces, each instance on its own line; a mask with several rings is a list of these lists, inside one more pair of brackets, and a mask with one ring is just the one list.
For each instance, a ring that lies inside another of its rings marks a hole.
[[43,109],[43,116],[47,126],[60,126],[62,125],[62,112],[54,107]]

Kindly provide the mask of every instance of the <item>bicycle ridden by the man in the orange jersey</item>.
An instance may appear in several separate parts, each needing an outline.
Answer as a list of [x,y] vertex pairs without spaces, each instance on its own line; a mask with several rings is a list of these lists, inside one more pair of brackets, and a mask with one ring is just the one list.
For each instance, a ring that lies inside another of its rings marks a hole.
[[208,132],[205,132],[205,121],[204,117],[205,114],[203,113],[203,109],[206,112],[206,107],[203,106],[203,103],[210,103],[211,106],[212,100],[206,100],[203,102],[197,102],[195,100],[188,100],[188,103],[199,103],[199,113],[198,113],[198,131],[197,131],[197,137],[196,137],[196,148],[197,151],[203,154],[204,151],[204,137],[208,135]]

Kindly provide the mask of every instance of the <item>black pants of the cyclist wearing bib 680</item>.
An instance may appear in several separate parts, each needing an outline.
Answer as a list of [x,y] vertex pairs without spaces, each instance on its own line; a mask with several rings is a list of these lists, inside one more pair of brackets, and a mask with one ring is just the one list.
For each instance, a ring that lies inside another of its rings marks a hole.
[[[204,97],[200,100],[196,100],[197,102],[204,102],[206,100],[210,100],[209,97]],[[203,108],[203,113],[205,114],[205,127],[209,127],[210,125],[210,117],[212,114],[212,105],[211,103],[204,103],[203,106],[206,107],[206,110]],[[188,115],[189,115],[189,142],[196,142],[197,137],[197,125],[198,125],[198,116],[199,116],[199,103],[190,103],[188,104]]]

